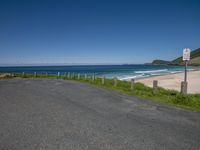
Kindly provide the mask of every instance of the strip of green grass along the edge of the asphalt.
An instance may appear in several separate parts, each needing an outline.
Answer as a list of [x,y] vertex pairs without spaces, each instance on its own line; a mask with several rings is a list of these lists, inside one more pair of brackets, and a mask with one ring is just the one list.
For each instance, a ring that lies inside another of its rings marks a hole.
[[78,79],[77,76],[71,77],[70,79],[64,76],[57,77],[53,75],[46,74],[38,74],[34,76],[34,74],[15,74],[16,77],[22,78],[62,78],[64,80],[76,80],[83,83],[89,83],[95,86],[112,89],[121,93],[125,93],[130,96],[137,96],[142,99],[153,100],[159,103],[164,103],[168,105],[173,105],[181,108],[187,108],[191,110],[200,110],[200,94],[181,94],[175,90],[166,90],[164,88],[159,87],[157,92],[153,91],[153,88],[147,87],[142,83],[135,83],[133,90],[131,90],[130,82],[127,81],[117,81],[117,86],[113,86],[112,79],[105,79],[105,84],[102,85],[101,78],[95,78],[92,80],[92,76],[88,76],[85,80],[84,76],[80,76]]

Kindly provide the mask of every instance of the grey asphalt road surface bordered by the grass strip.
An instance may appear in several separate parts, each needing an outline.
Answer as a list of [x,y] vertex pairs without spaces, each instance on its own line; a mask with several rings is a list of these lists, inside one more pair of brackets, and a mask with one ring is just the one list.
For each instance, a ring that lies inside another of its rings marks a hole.
[[61,79],[0,80],[0,150],[200,150],[200,113]]

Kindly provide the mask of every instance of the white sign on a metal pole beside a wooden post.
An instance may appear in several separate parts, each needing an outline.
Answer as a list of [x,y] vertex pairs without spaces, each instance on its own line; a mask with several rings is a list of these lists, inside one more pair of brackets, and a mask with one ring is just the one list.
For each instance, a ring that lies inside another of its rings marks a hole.
[[184,48],[183,49],[183,61],[185,62],[185,76],[184,81],[181,82],[181,93],[187,94],[187,64],[190,60],[190,49]]

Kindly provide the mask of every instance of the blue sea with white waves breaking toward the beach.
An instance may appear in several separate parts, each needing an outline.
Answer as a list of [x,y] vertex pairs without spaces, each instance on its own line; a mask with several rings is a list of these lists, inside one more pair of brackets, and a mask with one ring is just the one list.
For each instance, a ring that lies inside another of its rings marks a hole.
[[[200,67],[188,67],[188,70],[200,70]],[[117,77],[120,80],[130,80],[131,78],[145,78],[183,72],[183,66],[167,65],[77,65],[77,66],[18,66],[18,67],[0,67],[0,72],[12,73],[48,73],[55,75],[58,72],[80,73],[96,76],[105,76],[106,78]]]

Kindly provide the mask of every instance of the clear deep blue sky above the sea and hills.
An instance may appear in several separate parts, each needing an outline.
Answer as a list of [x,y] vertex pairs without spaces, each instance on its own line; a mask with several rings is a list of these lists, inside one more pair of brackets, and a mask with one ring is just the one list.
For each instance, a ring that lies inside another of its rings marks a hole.
[[0,0],[0,65],[172,60],[200,47],[199,0]]

